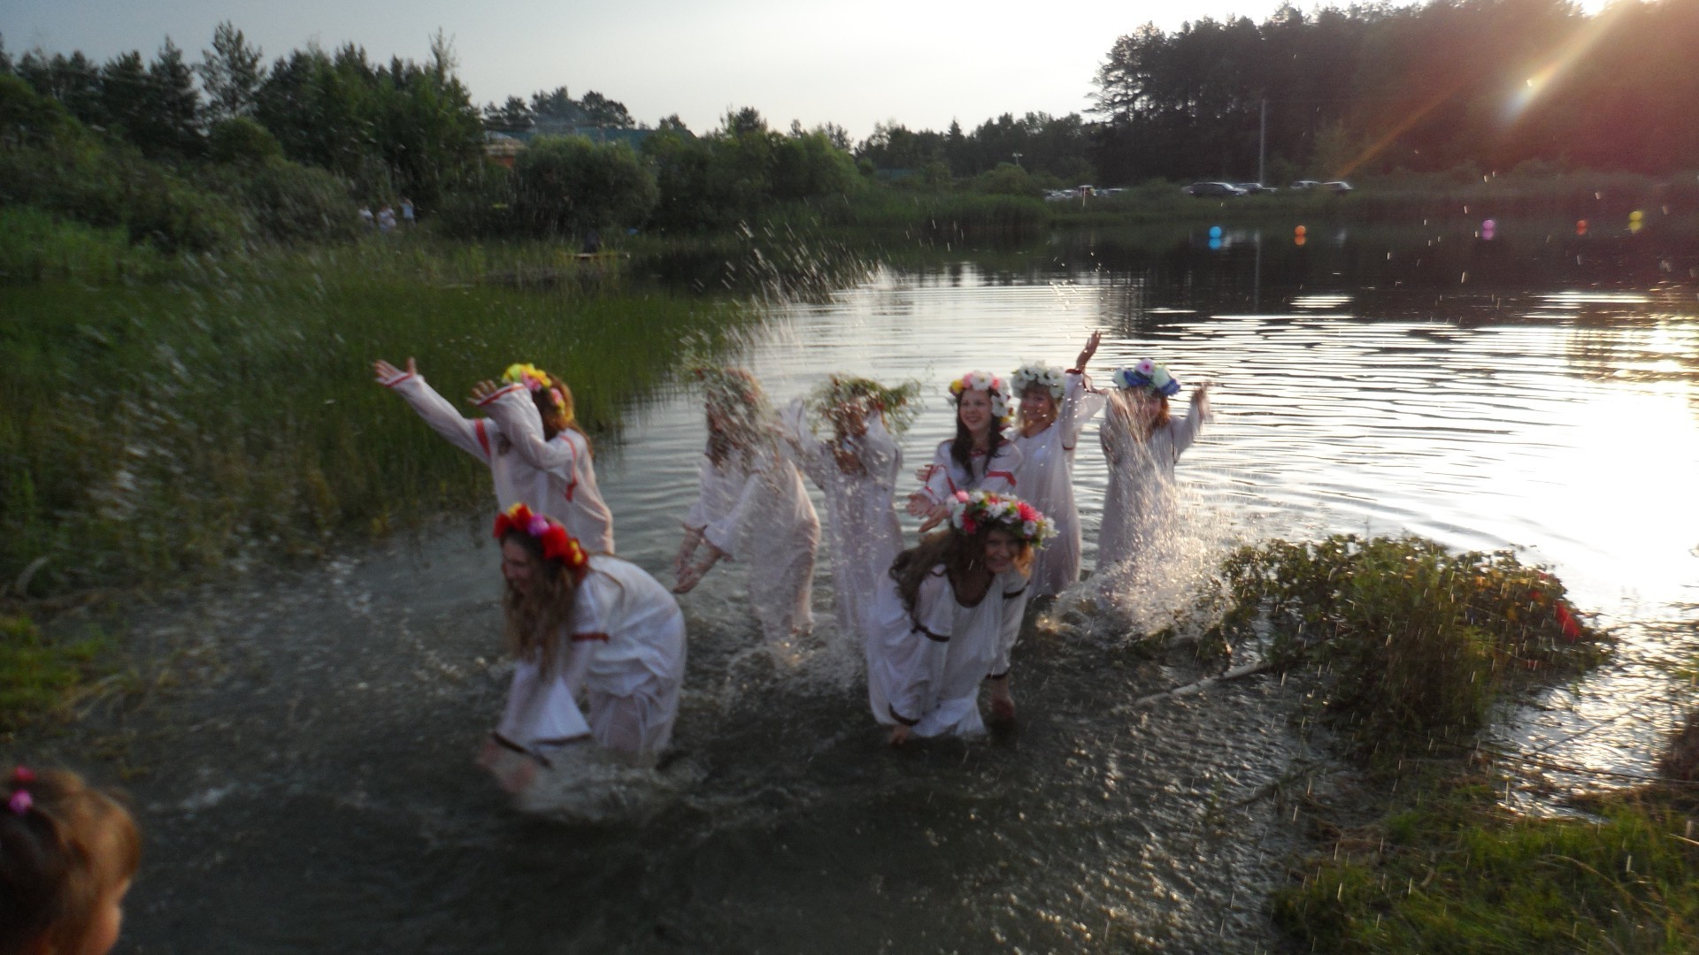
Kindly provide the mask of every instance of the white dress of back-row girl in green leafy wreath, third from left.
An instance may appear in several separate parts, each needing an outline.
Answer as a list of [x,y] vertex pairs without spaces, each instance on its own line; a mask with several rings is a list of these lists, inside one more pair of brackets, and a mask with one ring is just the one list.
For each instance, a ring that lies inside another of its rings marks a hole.
[[802,399],[785,410],[785,430],[793,440],[797,464],[826,494],[826,522],[833,537],[833,590],[838,632],[866,641],[868,612],[878,581],[902,551],[902,527],[892,496],[902,450],[885,430],[878,411],[866,416],[866,432],[844,440],[861,462],[861,474],[846,474],[838,466],[831,444],[816,438],[804,421]]

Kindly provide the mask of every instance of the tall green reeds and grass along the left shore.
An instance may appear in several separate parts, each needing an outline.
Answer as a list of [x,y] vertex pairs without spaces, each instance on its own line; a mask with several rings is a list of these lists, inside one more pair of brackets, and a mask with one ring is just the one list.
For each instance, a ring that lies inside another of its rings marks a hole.
[[314,556],[483,501],[483,469],[372,384],[372,359],[416,357],[452,401],[537,362],[607,438],[681,352],[751,319],[544,245],[375,240],[3,285],[0,308],[0,581],[29,595]]

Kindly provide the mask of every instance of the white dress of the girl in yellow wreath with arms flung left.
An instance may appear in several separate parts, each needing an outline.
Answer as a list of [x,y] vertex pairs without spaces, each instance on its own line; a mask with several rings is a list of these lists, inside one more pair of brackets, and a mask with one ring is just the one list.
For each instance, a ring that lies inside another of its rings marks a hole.
[[462,418],[423,376],[384,382],[449,444],[489,466],[501,510],[525,505],[552,517],[586,551],[613,552],[613,515],[596,488],[584,435],[567,428],[544,440],[542,416],[522,384],[479,401],[489,418]]

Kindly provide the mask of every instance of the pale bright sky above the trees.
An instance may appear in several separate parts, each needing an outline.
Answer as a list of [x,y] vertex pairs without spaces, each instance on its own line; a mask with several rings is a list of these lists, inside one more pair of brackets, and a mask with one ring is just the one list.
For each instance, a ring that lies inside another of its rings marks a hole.
[[[1583,0],[1595,10],[1602,0]],[[374,61],[423,59],[442,29],[479,105],[566,87],[620,100],[641,122],[678,114],[695,131],[753,105],[778,129],[836,122],[863,139],[875,122],[972,129],[1013,112],[1091,109],[1092,80],[1118,36],[1203,17],[1264,20],[1279,0],[3,0],[14,56],[41,48],[97,61],[167,36],[195,63],[231,20],[267,61],[318,42],[364,46]],[[1332,5],[1347,5],[1337,2]],[[1300,7],[1308,8],[1307,3]]]

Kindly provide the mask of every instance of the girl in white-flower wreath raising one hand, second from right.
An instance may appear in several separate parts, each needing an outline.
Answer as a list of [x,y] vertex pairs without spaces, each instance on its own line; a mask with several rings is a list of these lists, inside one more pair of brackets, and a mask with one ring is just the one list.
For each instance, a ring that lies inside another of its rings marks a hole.
[[1098,352],[1098,333],[1086,340],[1074,367],[1021,365],[1011,376],[1021,399],[1014,447],[1021,450],[1021,498],[1047,513],[1057,539],[1033,559],[1031,596],[1055,596],[1079,581],[1079,508],[1074,506],[1074,447],[1098,411],[1103,393],[1091,387],[1086,364]]

